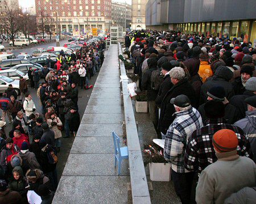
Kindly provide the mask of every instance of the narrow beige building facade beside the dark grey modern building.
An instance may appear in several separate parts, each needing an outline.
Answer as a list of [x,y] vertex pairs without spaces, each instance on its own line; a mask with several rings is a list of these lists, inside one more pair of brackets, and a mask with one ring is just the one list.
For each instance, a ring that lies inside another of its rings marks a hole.
[[146,4],[148,0],[132,0],[131,29],[146,29]]

